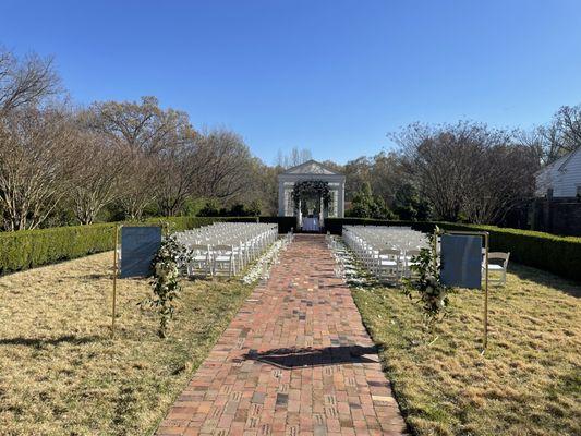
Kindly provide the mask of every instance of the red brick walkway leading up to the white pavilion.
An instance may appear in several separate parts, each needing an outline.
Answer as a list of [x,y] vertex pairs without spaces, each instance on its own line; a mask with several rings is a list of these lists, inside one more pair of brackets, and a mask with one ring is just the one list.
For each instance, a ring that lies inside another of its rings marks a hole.
[[401,435],[406,426],[320,235],[296,235],[158,435]]

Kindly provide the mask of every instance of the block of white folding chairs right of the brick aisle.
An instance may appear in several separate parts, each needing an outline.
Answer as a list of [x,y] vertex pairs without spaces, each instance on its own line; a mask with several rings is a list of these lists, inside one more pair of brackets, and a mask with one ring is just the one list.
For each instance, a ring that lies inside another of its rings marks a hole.
[[424,233],[408,227],[343,226],[343,241],[378,280],[412,277],[412,258],[427,246]]

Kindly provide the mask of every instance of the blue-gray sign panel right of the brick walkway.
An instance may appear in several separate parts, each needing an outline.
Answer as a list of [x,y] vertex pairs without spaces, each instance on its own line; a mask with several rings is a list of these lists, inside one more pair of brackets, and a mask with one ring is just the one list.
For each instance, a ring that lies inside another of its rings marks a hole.
[[450,287],[481,289],[482,237],[441,237],[441,282]]

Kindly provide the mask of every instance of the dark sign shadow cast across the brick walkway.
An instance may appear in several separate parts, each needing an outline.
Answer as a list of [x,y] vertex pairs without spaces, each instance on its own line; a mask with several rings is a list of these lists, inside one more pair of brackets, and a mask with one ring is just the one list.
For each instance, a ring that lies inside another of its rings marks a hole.
[[378,362],[376,347],[338,346],[325,348],[279,348],[256,352],[251,350],[244,355],[285,370],[305,366],[340,365],[343,363]]

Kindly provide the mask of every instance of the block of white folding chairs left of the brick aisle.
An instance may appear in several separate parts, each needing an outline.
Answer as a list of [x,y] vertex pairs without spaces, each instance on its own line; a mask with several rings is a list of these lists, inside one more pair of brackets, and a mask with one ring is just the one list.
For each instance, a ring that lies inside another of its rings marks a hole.
[[187,249],[181,265],[189,276],[237,276],[278,238],[278,226],[254,222],[218,222],[179,232]]

